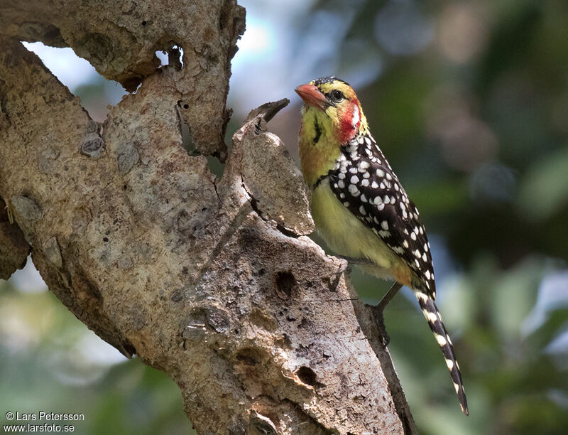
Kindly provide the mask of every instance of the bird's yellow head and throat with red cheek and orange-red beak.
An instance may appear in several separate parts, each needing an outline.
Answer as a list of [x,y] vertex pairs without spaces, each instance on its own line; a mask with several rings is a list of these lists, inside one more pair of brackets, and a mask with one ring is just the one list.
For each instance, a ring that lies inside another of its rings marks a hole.
[[309,186],[334,166],[341,147],[368,131],[355,91],[335,77],[322,77],[296,88],[302,100],[300,159]]

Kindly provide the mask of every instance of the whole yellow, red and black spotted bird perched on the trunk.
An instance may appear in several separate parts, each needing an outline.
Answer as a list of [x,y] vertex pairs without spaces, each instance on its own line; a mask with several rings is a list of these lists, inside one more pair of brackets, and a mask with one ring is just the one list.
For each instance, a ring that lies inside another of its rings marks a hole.
[[469,415],[452,340],[436,306],[430,242],[418,209],[371,135],[347,82],[321,77],[295,88],[304,105],[298,148],[318,232],[339,257],[394,284],[374,306],[383,310],[402,286],[413,290],[444,355],[461,411]]

